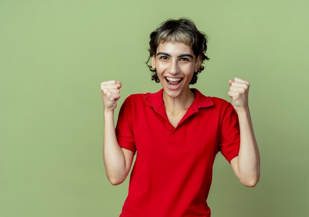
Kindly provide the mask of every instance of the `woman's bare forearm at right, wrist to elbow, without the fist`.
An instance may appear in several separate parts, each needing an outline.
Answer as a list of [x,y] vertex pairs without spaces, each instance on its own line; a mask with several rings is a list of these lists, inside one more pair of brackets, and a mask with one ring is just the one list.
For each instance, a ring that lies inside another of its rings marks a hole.
[[254,186],[260,179],[260,154],[254,136],[249,108],[238,112],[240,127],[240,149],[238,154],[239,180]]

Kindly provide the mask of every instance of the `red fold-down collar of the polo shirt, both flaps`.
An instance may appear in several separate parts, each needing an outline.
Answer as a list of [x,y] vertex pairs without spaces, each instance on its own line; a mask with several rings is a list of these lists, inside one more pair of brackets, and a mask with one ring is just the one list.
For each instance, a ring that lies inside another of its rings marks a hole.
[[[209,96],[204,96],[198,89],[191,88],[191,90],[195,95],[194,101],[192,103],[194,107],[209,107],[214,104]],[[147,96],[145,96],[144,100],[147,102],[148,105],[153,108],[161,107],[164,104],[163,88],[160,89],[158,92],[148,94]]]

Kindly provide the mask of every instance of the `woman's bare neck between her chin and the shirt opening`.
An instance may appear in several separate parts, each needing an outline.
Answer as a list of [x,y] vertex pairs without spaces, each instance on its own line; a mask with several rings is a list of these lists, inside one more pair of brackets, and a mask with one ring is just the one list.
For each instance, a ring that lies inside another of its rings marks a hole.
[[171,113],[177,113],[187,110],[194,101],[194,93],[188,88],[177,97],[170,97],[163,91],[163,101],[165,110]]

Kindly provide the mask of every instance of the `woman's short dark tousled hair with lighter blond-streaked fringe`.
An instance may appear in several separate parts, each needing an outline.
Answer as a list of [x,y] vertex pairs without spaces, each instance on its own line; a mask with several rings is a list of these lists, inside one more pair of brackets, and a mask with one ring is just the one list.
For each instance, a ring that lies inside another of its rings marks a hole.
[[190,85],[195,84],[197,81],[197,74],[204,70],[204,66],[202,66],[203,61],[209,60],[205,55],[207,51],[207,41],[207,36],[203,32],[198,31],[193,21],[188,18],[180,18],[178,20],[168,19],[161,23],[156,30],[150,34],[150,47],[148,49],[150,55],[146,64],[150,71],[153,72],[152,80],[156,83],[160,82],[156,74],[156,69],[153,69],[152,66],[149,65],[150,59],[156,54],[158,45],[164,42],[179,42],[190,46],[196,58],[198,55],[201,56],[200,67],[197,72],[193,73],[190,82]]

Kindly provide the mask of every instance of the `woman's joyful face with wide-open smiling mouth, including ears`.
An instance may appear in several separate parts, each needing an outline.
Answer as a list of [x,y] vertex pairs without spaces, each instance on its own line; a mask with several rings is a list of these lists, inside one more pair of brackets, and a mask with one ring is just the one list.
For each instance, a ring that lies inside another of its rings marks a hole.
[[169,97],[180,97],[190,91],[189,84],[200,66],[190,46],[179,42],[160,43],[152,57],[152,67]]

